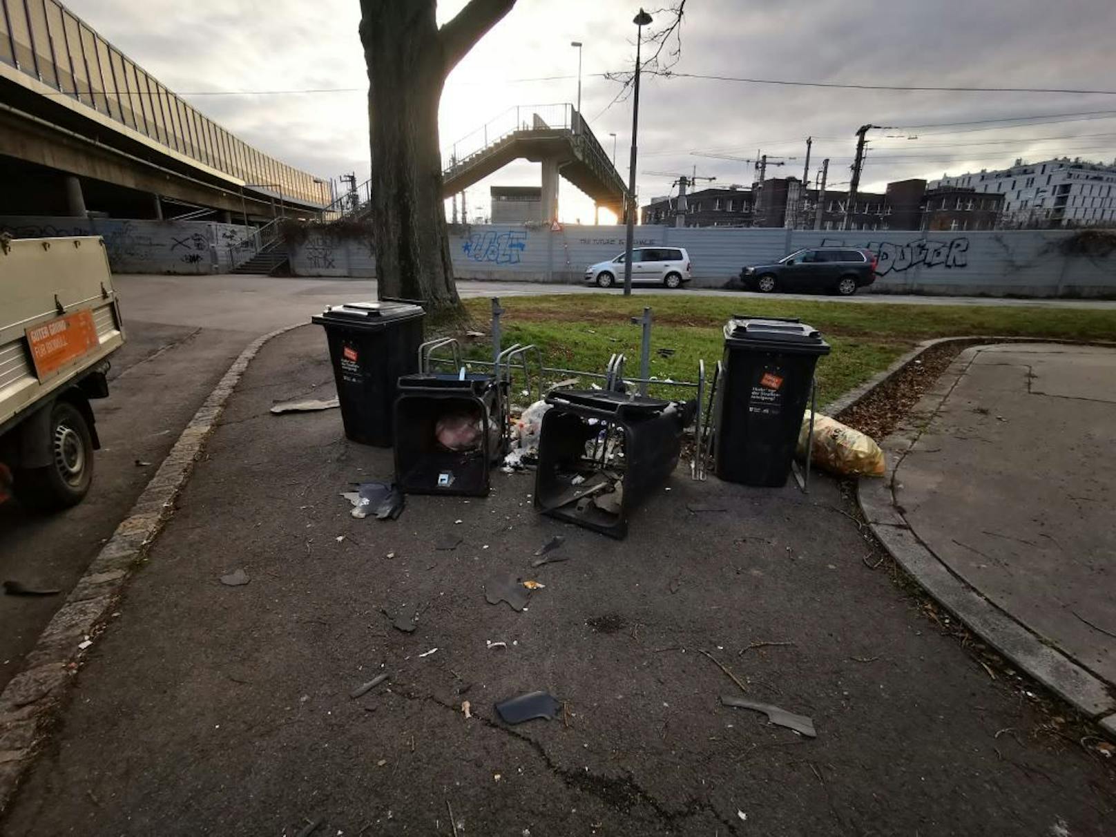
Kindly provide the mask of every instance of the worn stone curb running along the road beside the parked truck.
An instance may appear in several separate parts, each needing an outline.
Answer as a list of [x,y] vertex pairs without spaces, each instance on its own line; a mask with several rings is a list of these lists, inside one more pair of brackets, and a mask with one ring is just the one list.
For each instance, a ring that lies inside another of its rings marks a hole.
[[298,323],[252,340],[194,413],[128,516],[116,527],[77,586],[66,597],[23,670],[0,693],[0,811],[11,801],[19,781],[35,759],[47,731],[49,710],[78,672],[87,639],[105,628],[105,618],[119,598],[124,583],[145,557],[163,525],[174,513],[174,500],[193,471],[205,440],[217,426],[225,403],[260,348]]

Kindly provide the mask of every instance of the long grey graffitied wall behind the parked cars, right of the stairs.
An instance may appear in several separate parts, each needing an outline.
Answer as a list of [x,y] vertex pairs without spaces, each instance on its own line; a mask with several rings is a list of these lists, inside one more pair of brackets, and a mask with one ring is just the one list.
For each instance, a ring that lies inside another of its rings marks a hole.
[[[773,261],[801,247],[867,248],[879,257],[872,290],[989,296],[1116,296],[1116,254],[1064,257],[1064,230],[991,232],[822,232],[783,229],[636,227],[635,243],[684,247],[693,287],[722,287],[744,264]],[[579,282],[585,268],[624,250],[623,227],[562,230],[489,224],[452,228],[459,279]],[[316,233],[291,249],[299,276],[374,276],[366,241]]]

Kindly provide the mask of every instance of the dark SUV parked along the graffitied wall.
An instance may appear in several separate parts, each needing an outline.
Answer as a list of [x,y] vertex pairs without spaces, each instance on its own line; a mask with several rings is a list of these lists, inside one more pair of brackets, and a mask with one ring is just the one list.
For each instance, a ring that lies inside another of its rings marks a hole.
[[749,290],[827,290],[849,297],[876,280],[876,254],[849,248],[806,248],[775,264],[756,264],[740,271]]

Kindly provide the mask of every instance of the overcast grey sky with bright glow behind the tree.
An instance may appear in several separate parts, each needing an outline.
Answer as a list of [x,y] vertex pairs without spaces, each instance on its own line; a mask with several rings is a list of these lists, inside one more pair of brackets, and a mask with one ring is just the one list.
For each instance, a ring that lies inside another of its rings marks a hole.
[[[652,0],[654,4],[656,0]],[[105,38],[180,94],[356,88],[281,95],[185,95],[244,141],[318,176],[368,174],[367,76],[357,0],[69,0]],[[440,3],[446,20],[464,0]],[[632,66],[638,6],[616,0],[519,0],[450,76],[441,141],[459,151],[516,105],[573,102],[584,47],[581,110],[627,179],[632,104],[599,74]],[[665,15],[658,16],[665,19]],[[656,21],[657,22],[657,21]],[[654,29],[655,26],[653,25]],[[848,84],[1114,89],[1114,0],[689,0],[679,73]],[[551,80],[540,76],[565,76]],[[1054,115],[1112,112],[1087,118]],[[946,126],[977,119],[1048,115]],[[795,157],[772,174],[810,177],[830,158],[847,181],[854,132],[874,123],[862,190],[891,180],[994,169],[1016,157],[1116,157],[1116,96],[821,89],[645,77],[641,93],[641,199],[666,194],[672,174],[750,184],[752,164],[693,152]],[[990,125],[994,129],[990,129]],[[1004,127],[1011,126],[1011,127]],[[916,136],[917,138],[907,138]],[[645,174],[661,172],[663,174]],[[488,214],[492,184],[533,185],[538,165],[508,166],[469,191]],[[701,185],[701,184],[699,184]],[[593,205],[562,183],[564,221],[591,222]],[[604,213],[602,220],[604,220]]]

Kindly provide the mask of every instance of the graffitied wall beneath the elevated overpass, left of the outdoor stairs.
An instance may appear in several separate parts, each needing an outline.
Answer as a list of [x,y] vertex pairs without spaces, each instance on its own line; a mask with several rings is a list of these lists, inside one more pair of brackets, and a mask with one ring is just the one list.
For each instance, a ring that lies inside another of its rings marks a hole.
[[246,229],[211,221],[0,218],[0,232],[15,238],[102,235],[115,273],[227,273],[251,256],[251,248],[232,250]]

